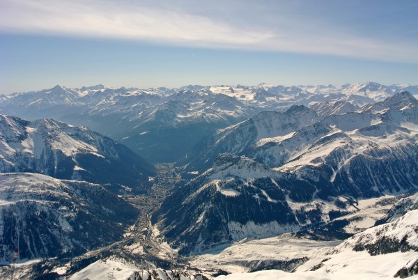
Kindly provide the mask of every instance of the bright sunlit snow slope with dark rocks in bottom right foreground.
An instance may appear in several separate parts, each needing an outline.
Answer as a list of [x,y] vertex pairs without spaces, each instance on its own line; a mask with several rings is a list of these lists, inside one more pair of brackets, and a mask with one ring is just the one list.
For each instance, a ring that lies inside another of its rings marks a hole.
[[265,270],[233,273],[216,279],[416,279],[417,211],[412,210],[397,221],[358,233],[326,254],[316,251],[317,256],[311,255],[293,273]]

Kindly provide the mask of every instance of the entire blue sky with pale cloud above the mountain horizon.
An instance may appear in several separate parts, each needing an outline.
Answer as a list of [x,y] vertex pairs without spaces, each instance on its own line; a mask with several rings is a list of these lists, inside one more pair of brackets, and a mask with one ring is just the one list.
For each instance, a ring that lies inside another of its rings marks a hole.
[[0,0],[0,93],[418,84],[416,0]]

